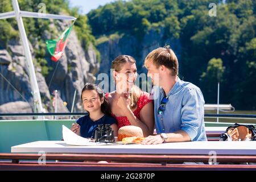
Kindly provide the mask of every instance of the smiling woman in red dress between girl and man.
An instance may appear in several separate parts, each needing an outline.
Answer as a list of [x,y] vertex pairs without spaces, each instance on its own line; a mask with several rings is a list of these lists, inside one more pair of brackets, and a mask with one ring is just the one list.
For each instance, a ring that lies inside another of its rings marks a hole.
[[112,116],[117,119],[118,128],[138,126],[147,137],[154,131],[154,106],[150,94],[135,86],[135,63],[135,59],[127,55],[119,55],[112,61],[116,90],[106,93],[105,97],[111,106]]

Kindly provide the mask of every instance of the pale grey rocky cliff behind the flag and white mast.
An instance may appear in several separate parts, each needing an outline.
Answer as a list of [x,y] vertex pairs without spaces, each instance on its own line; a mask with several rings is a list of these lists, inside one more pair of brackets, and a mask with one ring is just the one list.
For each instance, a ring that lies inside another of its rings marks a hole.
[[[63,22],[49,25],[62,32],[69,25]],[[45,39],[50,39],[49,32],[43,32]],[[30,49],[34,58],[36,40]],[[63,57],[55,63],[46,54],[48,67],[52,67],[47,77],[42,75],[42,69],[35,63],[36,78],[42,97],[43,107],[48,112],[53,111],[52,92],[59,90],[58,112],[70,111],[75,89],[76,102],[74,111],[82,111],[80,95],[85,82],[94,82],[94,76],[98,72],[99,63],[96,52],[90,45],[87,49],[82,48],[75,30],[69,36],[67,47]],[[31,84],[28,77],[26,59],[20,40],[10,40],[6,49],[0,49],[0,113],[30,113],[33,109]],[[64,106],[63,102],[67,102]],[[15,107],[14,107],[15,106]]]

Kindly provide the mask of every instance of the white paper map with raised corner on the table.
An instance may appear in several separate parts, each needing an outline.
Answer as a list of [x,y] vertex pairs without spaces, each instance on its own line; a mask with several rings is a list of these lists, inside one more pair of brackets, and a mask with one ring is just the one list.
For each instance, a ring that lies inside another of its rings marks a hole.
[[80,137],[79,135],[73,133],[73,131],[69,130],[64,125],[62,125],[62,135],[65,143],[75,145],[75,146],[97,146],[97,145],[104,144],[104,143],[95,143],[95,142],[92,142],[92,140],[90,140],[89,138]]

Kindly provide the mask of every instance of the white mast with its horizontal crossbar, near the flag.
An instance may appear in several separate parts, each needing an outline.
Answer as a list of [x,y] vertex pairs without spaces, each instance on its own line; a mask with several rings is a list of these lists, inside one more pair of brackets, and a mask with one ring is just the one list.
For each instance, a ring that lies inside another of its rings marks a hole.
[[42,13],[34,13],[34,12],[28,12],[28,11],[20,11],[18,0],[11,0],[11,2],[13,4],[14,11],[1,13],[0,19],[14,18],[14,17],[16,18],[16,21],[18,23],[20,38],[22,40],[22,46],[24,48],[24,53],[27,61],[28,76],[30,77],[34,105],[36,107],[36,110],[34,110],[34,112],[44,113],[41,96],[38,88],[38,81],[36,80],[35,68],[32,61],[30,47],[28,46],[27,34],[24,28],[22,16],[30,17],[30,18],[63,19],[63,20],[75,20],[76,18],[73,16],[63,16],[63,15],[42,14]]

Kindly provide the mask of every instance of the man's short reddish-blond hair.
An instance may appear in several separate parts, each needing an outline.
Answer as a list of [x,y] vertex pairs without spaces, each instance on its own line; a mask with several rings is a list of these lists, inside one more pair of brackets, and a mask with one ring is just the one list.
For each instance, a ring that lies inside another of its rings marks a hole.
[[144,66],[146,68],[146,64],[149,61],[152,61],[156,68],[159,68],[160,65],[164,65],[168,69],[171,69],[172,76],[179,74],[179,63],[174,51],[172,51],[170,46],[159,47],[151,51],[144,61]]

